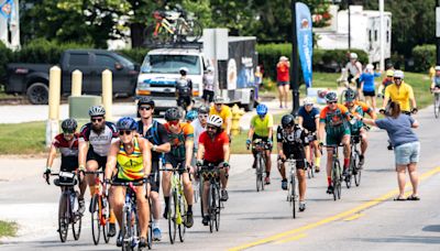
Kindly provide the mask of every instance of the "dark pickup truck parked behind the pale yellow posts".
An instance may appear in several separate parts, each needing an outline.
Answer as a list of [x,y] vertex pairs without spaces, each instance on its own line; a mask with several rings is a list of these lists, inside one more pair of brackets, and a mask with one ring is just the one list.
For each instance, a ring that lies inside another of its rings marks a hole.
[[[7,94],[25,94],[34,105],[48,101],[50,68],[46,64],[8,64]],[[67,50],[58,65],[62,69],[62,95],[72,91],[72,73],[82,73],[82,94],[101,95],[101,73],[113,74],[113,96],[133,96],[136,87],[139,65],[118,53],[105,50]]]

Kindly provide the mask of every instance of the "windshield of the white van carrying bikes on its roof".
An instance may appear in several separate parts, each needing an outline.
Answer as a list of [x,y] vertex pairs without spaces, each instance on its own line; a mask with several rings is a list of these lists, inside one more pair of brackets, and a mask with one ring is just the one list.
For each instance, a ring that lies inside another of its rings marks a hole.
[[191,55],[146,55],[141,72],[179,74],[180,67],[187,67],[189,75],[200,75],[199,57]]

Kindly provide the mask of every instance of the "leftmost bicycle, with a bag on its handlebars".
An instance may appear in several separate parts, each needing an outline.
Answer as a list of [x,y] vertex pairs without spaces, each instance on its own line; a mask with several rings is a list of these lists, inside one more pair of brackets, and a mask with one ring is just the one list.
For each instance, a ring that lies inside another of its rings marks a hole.
[[[62,195],[59,197],[58,205],[58,233],[62,242],[66,242],[68,227],[72,225],[72,231],[74,239],[78,240],[81,232],[81,214],[77,214],[78,209],[78,196],[79,193],[75,190],[75,186],[78,183],[76,178],[76,172],[59,172],[51,173],[51,176],[58,176],[54,179],[54,185],[62,188]],[[46,175],[46,183],[51,185],[50,176]]]

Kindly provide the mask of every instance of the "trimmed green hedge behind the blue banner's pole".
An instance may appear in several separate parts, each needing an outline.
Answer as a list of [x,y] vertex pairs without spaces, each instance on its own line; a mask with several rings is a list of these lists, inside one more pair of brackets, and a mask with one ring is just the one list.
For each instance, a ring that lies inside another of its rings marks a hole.
[[[263,44],[257,45],[256,51],[258,52],[258,63],[263,65],[265,76],[272,79],[276,79],[276,64],[279,57],[292,57],[292,44]],[[348,62],[346,52],[346,50],[314,48],[314,70],[339,72]],[[352,50],[351,52],[358,53],[360,62],[369,62],[369,56],[365,52],[361,50]],[[299,73],[302,76],[302,73]]]

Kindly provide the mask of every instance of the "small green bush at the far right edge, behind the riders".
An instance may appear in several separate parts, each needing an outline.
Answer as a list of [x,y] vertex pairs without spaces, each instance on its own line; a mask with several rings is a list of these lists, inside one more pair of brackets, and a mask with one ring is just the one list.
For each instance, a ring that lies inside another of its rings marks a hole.
[[413,48],[414,70],[418,73],[427,72],[432,65],[436,65],[436,45],[424,44]]

